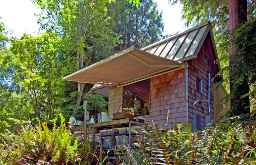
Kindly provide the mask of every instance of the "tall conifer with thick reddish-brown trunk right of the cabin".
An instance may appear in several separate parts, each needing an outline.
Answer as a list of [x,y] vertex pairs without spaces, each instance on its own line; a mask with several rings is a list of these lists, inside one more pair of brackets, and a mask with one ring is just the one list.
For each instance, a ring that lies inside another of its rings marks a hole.
[[250,100],[246,95],[249,92],[248,73],[244,62],[238,63],[236,60],[235,55],[239,48],[229,40],[232,39],[232,32],[239,24],[246,22],[247,17],[250,19],[255,17],[255,0],[169,0],[169,2],[183,4],[183,19],[187,20],[187,24],[208,20],[212,22],[219,54],[221,57],[229,54],[231,111],[233,115],[250,112]]

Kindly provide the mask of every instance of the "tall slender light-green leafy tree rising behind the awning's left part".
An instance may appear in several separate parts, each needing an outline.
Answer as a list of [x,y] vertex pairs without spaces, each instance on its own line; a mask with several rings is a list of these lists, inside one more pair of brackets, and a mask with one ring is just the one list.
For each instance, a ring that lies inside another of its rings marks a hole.
[[[68,36],[71,50],[76,51],[76,67],[81,70],[90,60],[90,45],[95,45],[99,39],[115,42],[106,28],[106,3],[112,0],[34,0],[42,11],[39,23],[42,28],[58,31]],[[93,43],[90,43],[93,42]],[[78,82],[78,97],[76,106],[81,103],[84,83]],[[78,109],[74,109],[73,115]]]

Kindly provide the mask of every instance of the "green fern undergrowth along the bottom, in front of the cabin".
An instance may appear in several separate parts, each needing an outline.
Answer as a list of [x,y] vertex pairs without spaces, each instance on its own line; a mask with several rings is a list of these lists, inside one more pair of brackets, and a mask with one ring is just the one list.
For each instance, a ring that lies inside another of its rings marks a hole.
[[[56,121],[60,118],[60,126]],[[23,128],[20,136],[0,134],[1,165],[256,165],[256,122],[238,118],[218,120],[202,131],[189,123],[176,129],[153,125],[144,142],[115,151],[119,160],[109,162],[99,144],[83,146],[65,128],[60,114],[50,130],[46,123]],[[98,150],[96,149],[98,148]],[[115,163],[116,162],[116,163]]]

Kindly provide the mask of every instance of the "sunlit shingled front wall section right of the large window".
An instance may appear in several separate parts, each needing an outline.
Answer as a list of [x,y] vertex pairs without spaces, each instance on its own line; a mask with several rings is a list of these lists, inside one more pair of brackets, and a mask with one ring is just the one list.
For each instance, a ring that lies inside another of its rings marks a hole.
[[176,70],[150,81],[150,115],[143,117],[150,123],[166,124],[168,128],[186,120],[185,69]]

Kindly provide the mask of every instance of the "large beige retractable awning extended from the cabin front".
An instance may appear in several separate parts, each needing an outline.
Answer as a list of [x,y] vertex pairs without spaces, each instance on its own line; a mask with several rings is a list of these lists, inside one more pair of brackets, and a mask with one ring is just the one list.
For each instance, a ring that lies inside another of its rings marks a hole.
[[62,80],[121,86],[183,65],[131,47],[62,78]]

